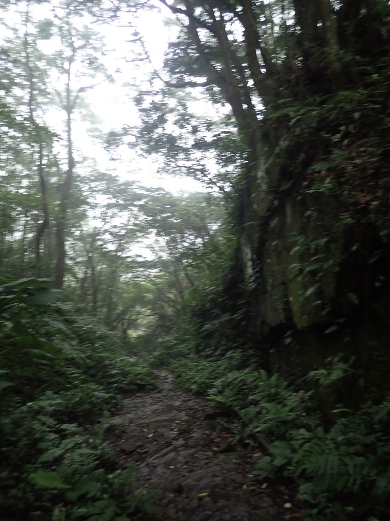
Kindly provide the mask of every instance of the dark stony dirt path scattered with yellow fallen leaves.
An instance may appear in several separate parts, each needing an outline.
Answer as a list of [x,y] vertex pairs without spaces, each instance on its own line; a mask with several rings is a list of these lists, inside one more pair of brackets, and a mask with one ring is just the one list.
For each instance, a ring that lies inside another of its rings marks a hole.
[[120,418],[120,465],[138,466],[159,521],[304,519],[293,487],[252,474],[261,449],[234,441],[235,420],[181,390],[168,371],[159,371],[157,390],[127,398]]

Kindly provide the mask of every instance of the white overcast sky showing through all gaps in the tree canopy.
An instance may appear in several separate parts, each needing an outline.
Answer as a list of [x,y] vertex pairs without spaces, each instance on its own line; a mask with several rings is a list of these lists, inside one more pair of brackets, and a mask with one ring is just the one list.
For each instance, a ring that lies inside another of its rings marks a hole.
[[[34,19],[34,14],[38,19],[53,19],[51,6],[55,2],[56,0],[53,0],[50,5],[44,3],[32,5],[30,7],[32,19]],[[24,34],[26,6],[27,3],[20,2],[14,6],[14,10],[12,10],[12,7],[10,8],[11,12],[5,13],[3,16],[0,13],[0,19],[5,19],[10,28],[18,26],[20,33]],[[21,14],[18,14],[18,11]],[[139,15],[137,13],[137,19],[137,29],[144,39],[153,67],[160,69],[169,38],[169,29],[164,26],[163,15],[156,10],[154,13],[148,12]],[[134,18],[132,18],[132,21],[134,21]],[[119,24],[122,24],[122,21]],[[123,20],[123,25],[126,25],[125,19]],[[99,141],[103,134],[110,130],[121,130],[123,125],[131,125],[138,121],[138,113],[132,101],[132,95],[136,93],[135,86],[137,83],[143,83],[146,89],[148,88],[147,79],[149,77],[150,65],[146,62],[134,63],[132,61],[134,46],[128,40],[134,38],[132,35],[134,29],[109,26],[108,24],[100,29],[97,25],[93,28],[100,30],[105,39],[108,52],[106,57],[103,58],[103,63],[114,77],[115,82],[101,82],[84,94],[84,98],[90,106],[88,119],[92,120],[92,123],[81,118],[75,118],[73,122],[72,134],[76,172],[80,175],[88,175],[88,165],[91,162],[84,160],[83,157],[85,157],[93,159],[96,170],[100,172],[110,172],[122,179],[136,180],[147,187],[162,187],[173,193],[205,191],[203,186],[194,179],[173,177],[168,175],[168,173],[162,174],[163,164],[156,157],[140,157],[136,151],[122,146],[120,150],[116,151],[116,157],[118,158],[119,156],[120,159],[113,162],[110,160],[108,153],[103,150],[102,142]],[[29,30],[34,32],[34,26],[31,26]],[[12,34],[11,29],[8,33],[8,35]],[[0,43],[2,37],[6,35],[6,31],[0,35]],[[42,51],[49,55],[59,51],[61,43],[58,38],[57,40],[51,38],[46,41],[42,40],[40,46]],[[86,79],[83,77],[83,72],[82,69],[79,69],[79,72],[76,73],[73,83],[74,88],[77,89],[79,86],[93,84],[95,81],[98,83],[98,79]],[[61,77],[59,76],[60,73],[57,73],[57,77],[53,76],[52,85],[58,91],[63,92],[64,71],[61,74]],[[55,132],[64,136],[66,130],[64,111],[59,107],[45,110],[44,119],[46,124]],[[204,102],[199,102],[198,110],[199,112],[204,111]],[[64,147],[63,139],[57,145],[57,148],[65,159],[66,147]]]

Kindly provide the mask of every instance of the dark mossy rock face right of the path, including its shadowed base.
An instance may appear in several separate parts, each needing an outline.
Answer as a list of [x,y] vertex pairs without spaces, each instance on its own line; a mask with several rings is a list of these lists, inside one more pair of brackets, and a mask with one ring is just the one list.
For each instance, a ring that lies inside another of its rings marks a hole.
[[271,370],[297,360],[312,370],[340,352],[367,364],[361,338],[382,353],[378,329],[388,330],[390,306],[379,304],[390,289],[388,195],[370,185],[362,199],[348,192],[349,181],[340,194],[327,180],[313,189],[307,176],[284,182],[276,169],[268,182],[258,177],[243,205],[241,240],[254,343],[271,346]]

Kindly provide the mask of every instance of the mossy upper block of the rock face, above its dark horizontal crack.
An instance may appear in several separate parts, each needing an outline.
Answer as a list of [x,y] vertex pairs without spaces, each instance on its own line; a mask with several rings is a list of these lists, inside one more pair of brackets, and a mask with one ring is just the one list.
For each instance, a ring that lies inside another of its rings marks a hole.
[[339,194],[337,179],[310,184],[307,174],[283,180],[282,172],[250,173],[242,204],[243,271],[265,334],[281,324],[328,324],[334,312],[367,306],[390,275],[385,191],[375,193],[371,183],[365,197],[349,193],[348,179]]

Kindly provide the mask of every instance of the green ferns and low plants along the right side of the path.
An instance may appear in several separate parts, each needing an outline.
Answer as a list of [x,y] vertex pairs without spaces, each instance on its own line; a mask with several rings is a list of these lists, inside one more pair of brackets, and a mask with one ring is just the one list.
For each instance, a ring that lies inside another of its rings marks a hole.
[[[319,379],[314,371],[301,381],[302,389],[258,370],[243,352],[182,358],[172,367],[186,389],[237,414],[237,438],[261,445],[264,454],[254,474],[263,482],[296,483],[297,501],[306,508],[307,519],[388,519],[390,398],[367,401],[357,411],[340,404],[332,412],[332,426],[324,428],[318,413],[321,396],[331,392],[335,379],[352,371],[339,358],[329,365],[328,379]],[[316,386],[308,390],[307,382],[313,380]]]

